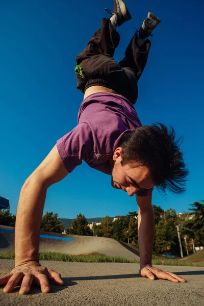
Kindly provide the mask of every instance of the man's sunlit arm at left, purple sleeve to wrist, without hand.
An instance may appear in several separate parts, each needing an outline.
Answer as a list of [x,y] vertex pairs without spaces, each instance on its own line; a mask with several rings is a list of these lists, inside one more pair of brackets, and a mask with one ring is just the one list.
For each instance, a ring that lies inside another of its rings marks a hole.
[[39,261],[39,232],[47,188],[68,174],[57,146],[25,181],[19,196],[15,225],[15,266]]

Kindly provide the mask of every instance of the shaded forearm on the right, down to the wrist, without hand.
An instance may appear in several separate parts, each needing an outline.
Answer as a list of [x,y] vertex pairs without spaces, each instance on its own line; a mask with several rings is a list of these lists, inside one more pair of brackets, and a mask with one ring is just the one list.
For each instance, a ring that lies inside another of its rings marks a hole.
[[140,266],[151,265],[152,251],[155,238],[155,219],[151,209],[138,215],[138,242],[140,250]]

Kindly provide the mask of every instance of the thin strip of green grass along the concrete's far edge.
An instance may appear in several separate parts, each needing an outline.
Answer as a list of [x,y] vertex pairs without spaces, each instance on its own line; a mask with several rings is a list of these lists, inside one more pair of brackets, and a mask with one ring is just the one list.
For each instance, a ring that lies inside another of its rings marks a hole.
[[[15,254],[14,252],[0,251],[0,259],[15,259]],[[139,263],[138,260],[127,260],[126,258],[105,256],[103,254],[70,255],[58,252],[40,252],[40,260],[81,263]],[[177,261],[175,259],[153,259],[152,264],[166,266],[204,267],[203,262]]]

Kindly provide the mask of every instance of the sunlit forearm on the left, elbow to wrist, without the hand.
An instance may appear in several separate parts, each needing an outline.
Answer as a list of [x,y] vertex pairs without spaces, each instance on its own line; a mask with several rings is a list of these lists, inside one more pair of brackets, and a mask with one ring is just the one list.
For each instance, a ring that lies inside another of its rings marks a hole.
[[15,266],[39,261],[39,232],[47,187],[38,176],[23,185],[16,214]]

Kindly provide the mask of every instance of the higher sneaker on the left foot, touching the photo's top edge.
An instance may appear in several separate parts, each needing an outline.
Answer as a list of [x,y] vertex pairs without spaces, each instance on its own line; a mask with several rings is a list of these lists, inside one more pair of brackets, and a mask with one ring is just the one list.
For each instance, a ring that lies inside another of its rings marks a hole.
[[120,27],[122,23],[132,18],[129,10],[127,10],[126,5],[122,0],[113,0],[113,12],[111,13],[110,10],[105,9],[111,15],[116,15],[117,17],[117,25]]

